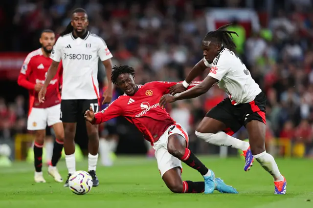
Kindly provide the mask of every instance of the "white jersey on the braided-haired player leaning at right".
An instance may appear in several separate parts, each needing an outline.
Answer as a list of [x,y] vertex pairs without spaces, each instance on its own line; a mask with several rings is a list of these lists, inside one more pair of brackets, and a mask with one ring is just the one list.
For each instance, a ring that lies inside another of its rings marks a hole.
[[246,65],[227,48],[223,48],[211,64],[205,58],[203,62],[211,68],[208,76],[219,81],[218,86],[228,94],[232,104],[249,103],[261,93]]

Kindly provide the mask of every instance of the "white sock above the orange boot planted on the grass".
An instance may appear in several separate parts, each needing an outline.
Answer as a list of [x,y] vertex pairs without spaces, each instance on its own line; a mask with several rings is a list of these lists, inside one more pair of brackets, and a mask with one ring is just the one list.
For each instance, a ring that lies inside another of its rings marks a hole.
[[253,155],[253,157],[260,163],[260,165],[269,172],[274,178],[274,181],[283,181],[284,177],[280,174],[278,166],[270,154],[266,151]]

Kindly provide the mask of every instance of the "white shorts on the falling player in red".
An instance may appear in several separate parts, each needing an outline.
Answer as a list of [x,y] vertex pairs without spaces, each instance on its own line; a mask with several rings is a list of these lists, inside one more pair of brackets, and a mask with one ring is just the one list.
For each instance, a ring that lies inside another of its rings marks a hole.
[[166,131],[161,135],[159,140],[154,143],[153,148],[156,150],[156,162],[161,177],[166,171],[174,167],[180,167],[180,169],[182,169],[181,161],[167,151],[168,138],[172,134],[179,134],[183,136],[187,144],[189,141],[189,137],[185,129],[183,129],[181,125],[175,124],[168,127]]

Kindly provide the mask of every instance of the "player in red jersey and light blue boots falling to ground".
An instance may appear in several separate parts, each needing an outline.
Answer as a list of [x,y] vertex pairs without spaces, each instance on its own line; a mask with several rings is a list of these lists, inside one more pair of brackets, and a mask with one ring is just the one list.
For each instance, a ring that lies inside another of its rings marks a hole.
[[[85,119],[98,125],[117,116],[125,117],[133,123],[151,142],[156,150],[159,172],[166,186],[175,193],[238,193],[235,188],[227,186],[221,179],[216,179],[214,172],[204,166],[188,149],[188,135],[170,115],[158,106],[163,94],[176,83],[152,82],[145,85],[134,83],[134,69],[130,66],[114,66],[111,77],[125,94],[119,96],[104,110],[94,113],[92,108],[85,113]],[[191,84],[190,87],[195,84]],[[204,182],[181,180],[181,161],[198,170]]]

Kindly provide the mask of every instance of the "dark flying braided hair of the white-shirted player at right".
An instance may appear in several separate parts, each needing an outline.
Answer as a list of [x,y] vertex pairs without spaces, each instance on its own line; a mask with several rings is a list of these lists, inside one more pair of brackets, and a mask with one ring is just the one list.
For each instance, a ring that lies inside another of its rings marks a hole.
[[234,31],[228,31],[225,30],[226,27],[230,26],[232,24],[226,24],[221,26],[219,29],[215,30],[215,31],[210,31],[208,32],[203,41],[211,41],[212,39],[214,39],[213,41],[217,41],[220,43],[223,43],[225,48],[228,49],[232,49],[232,48],[236,48],[236,44],[233,42],[233,37],[231,34],[235,34],[238,36],[238,34]]

